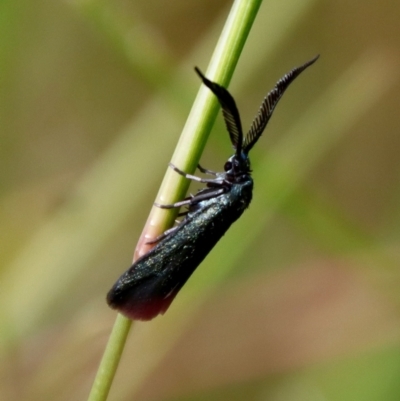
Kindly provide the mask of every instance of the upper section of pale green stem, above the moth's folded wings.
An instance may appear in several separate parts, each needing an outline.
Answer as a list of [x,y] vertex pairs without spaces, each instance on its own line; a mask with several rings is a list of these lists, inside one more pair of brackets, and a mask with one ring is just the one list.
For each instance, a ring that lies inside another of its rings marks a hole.
[[[261,0],[236,0],[206,70],[207,78],[227,87],[243,46],[253,25]],[[193,173],[207,142],[219,110],[215,96],[201,86],[190,111],[171,162],[187,173]],[[182,199],[189,181],[172,169],[167,169],[156,202],[172,204]],[[135,251],[135,259],[147,253],[149,239],[156,238],[171,227],[176,210],[153,207]]]

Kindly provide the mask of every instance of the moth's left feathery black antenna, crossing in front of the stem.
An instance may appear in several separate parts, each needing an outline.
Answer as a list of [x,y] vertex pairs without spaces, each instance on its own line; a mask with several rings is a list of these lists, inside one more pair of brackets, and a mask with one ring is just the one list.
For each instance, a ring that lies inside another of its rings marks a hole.
[[229,132],[232,145],[236,149],[236,153],[240,153],[242,150],[243,132],[235,100],[224,87],[207,79],[197,67],[195,67],[195,70],[197,74],[199,74],[204,85],[211,89],[217,97],[222,108],[222,114],[224,116],[225,125]]

